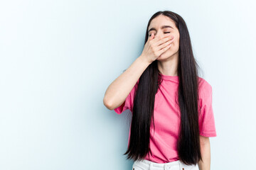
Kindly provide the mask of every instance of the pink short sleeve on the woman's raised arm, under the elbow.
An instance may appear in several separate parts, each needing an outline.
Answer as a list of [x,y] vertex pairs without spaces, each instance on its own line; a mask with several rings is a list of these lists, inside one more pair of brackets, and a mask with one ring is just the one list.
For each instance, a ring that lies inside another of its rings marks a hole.
[[135,86],[132,88],[132,91],[130,91],[130,93],[128,94],[128,96],[125,99],[124,103],[122,103],[121,106],[119,106],[117,108],[114,108],[114,111],[117,114],[121,114],[121,113],[123,113],[127,109],[129,109],[132,112],[133,102],[134,102],[134,95],[135,95],[135,91],[137,90],[138,83],[139,83],[139,80],[137,81]]

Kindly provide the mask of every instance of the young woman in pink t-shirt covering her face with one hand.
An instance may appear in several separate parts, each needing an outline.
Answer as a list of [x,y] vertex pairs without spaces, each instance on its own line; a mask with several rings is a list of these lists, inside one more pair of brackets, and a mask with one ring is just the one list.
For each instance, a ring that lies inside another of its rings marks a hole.
[[107,88],[103,102],[121,114],[129,109],[127,159],[137,169],[210,169],[216,137],[212,87],[198,77],[191,39],[177,13],[149,19],[140,55]]

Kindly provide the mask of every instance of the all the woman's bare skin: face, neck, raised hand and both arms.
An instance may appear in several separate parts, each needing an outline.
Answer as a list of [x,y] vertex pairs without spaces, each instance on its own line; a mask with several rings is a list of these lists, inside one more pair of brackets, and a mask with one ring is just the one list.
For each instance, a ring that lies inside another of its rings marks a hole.
[[[164,28],[163,26],[167,27]],[[154,60],[158,61],[157,64],[161,74],[178,75],[179,31],[174,21],[167,16],[157,16],[151,21],[148,31],[149,38],[144,45],[142,55],[137,57],[117,79],[114,79],[105,92],[103,103],[110,110],[124,103],[139,77]],[[210,170],[209,137],[200,136],[200,141],[203,162],[198,163],[199,169]]]

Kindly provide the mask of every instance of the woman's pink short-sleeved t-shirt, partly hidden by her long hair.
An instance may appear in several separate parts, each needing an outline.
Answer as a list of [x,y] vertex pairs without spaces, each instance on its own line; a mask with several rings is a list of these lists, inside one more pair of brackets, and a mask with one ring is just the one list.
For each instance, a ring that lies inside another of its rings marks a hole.
[[[177,147],[178,127],[180,124],[180,111],[176,101],[178,98],[178,76],[161,74],[163,81],[155,96],[154,123],[151,124],[150,149],[153,155],[146,154],[144,159],[156,163],[174,162],[179,159]],[[129,109],[132,112],[134,92],[137,90],[139,80],[127,96],[124,103],[114,111],[121,114]],[[208,82],[199,77],[199,103],[201,114],[198,116],[200,135],[216,137],[215,120],[212,107],[212,87]],[[199,109],[198,109],[199,111]],[[130,137],[130,131],[129,131]]]

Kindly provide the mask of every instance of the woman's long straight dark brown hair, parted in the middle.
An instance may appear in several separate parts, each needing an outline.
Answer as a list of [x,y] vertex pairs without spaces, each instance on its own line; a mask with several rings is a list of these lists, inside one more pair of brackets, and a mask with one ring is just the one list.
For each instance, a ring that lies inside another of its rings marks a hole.
[[[146,27],[146,44],[148,28],[152,19],[164,15],[171,18],[178,28],[178,106],[181,112],[181,123],[178,136],[178,157],[184,164],[196,165],[201,158],[201,147],[198,125],[198,64],[193,57],[191,39],[185,21],[177,13],[171,11],[158,11],[149,19]],[[151,153],[149,136],[151,122],[154,125],[154,101],[161,75],[157,67],[157,60],[149,64],[142,76],[134,96],[132,109],[131,134],[127,152],[127,159],[141,160]],[[170,89],[171,91],[172,89]],[[171,126],[171,124],[170,124]]]

